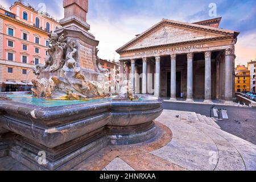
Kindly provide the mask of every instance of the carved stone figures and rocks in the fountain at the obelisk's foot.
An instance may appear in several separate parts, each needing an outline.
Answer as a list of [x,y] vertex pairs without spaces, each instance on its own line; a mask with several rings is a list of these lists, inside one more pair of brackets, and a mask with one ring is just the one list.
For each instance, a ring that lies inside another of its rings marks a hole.
[[[75,40],[64,42],[63,34],[51,34],[45,63],[34,68],[34,73],[38,75],[36,80],[32,80],[34,96],[51,100],[86,100],[109,96],[104,81],[90,81],[82,75],[81,68],[77,67],[76,47]],[[109,77],[108,69],[100,64],[98,69],[103,77]],[[44,77],[49,73],[51,76],[48,79]]]

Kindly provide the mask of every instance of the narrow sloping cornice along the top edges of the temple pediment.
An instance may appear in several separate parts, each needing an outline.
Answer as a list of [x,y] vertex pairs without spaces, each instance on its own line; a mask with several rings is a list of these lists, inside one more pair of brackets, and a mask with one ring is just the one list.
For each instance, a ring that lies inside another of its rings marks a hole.
[[159,23],[156,23],[154,26],[150,27],[148,30],[142,32],[142,34],[139,34],[134,39],[132,39],[130,42],[126,43],[124,46],[118,48],[116,50],[116,52],[121,53],[124,49],[131,46],[138,40],[143,39],[148,34],[155,31],[157,28],[161,27],[163,24],[170,24],[172,26],[190,28],[190,29],[198,30],[198,31],[206,31],[206,32],[210,32],[213,34],[220,34],[220,35],[229,36],[229,37],[232,36],[232,38],[237,38],[237,36],[240,34],[240,32],[236,32],[236,31],[232,31],[232,30],[225,30],[222,28],[214,28],[214,27],[209,27],[209,26],[203,26],[200,24],[185,23],[185,22],[179,22],[179,21],[170,20],[170,19],[162,19]]

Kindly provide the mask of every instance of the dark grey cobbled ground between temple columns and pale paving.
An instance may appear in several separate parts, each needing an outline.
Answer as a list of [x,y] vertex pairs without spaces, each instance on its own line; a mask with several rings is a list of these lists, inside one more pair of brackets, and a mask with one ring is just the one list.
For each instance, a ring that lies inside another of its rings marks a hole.
[[[164,102],[164,109],[191,111],[210,116],[210,107],[205,104],[187,104],[177,102]],[[256,108],[221,106],[228,110],[229,119],[216,122],[222,130],[256,144]]]

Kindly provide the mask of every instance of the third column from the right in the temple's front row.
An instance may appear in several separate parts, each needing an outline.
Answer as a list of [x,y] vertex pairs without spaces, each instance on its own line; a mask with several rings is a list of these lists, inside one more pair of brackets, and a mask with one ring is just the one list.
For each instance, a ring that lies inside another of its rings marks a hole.
[[193,101],[193,53],[187,54],[187,102]]

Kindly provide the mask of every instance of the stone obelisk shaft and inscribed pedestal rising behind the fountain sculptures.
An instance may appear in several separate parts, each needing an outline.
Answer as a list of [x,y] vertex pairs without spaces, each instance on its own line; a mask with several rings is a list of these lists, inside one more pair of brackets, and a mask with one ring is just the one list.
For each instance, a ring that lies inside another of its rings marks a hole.
[[86,78],[96,81],[100,74],[96,63],[96,47],[99,42],[88,32],[90,30],[90,25],[86,23],[88,0],[64,0],[63,7],[64,18],[60,20],[62,27],[55,32],[59,35],[64,34],[66,42],[76,42],[75,60],[78,67]]

